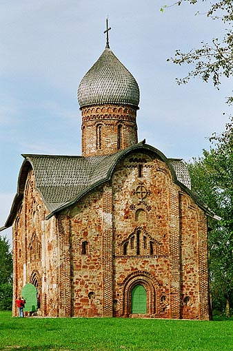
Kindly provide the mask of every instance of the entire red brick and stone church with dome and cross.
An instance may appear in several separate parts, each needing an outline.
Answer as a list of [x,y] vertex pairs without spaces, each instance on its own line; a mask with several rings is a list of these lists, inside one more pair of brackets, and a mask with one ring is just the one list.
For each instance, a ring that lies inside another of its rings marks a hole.
[[43,317],[210,319],[208,209],[181,159],[139,142],[139,85],[109,29],[78,88],[81,156],[22,155],[1,228],[13,296]]

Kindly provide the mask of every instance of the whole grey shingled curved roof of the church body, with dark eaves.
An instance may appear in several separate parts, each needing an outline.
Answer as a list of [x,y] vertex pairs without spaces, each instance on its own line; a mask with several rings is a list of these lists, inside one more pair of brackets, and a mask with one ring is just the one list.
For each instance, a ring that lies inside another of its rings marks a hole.
[[[143,151],[156,155],[169,167],[172,180],[184,191],[204,206],[190,191],[190,175],[181,159],[168,159],[161,151],[150,145],[139,142],[127,149],[108,156],[53,156],[23,154],[25,158],[19,172],[17,195],[12,203],[10,215],[0,231],[12,225],[17,209],[23,199],[26,177],[30,169],[34,170],[36,189],[47,206],[49,219],[55,213],[77,202],[90,190],[110,180],[117,163],[129,153]],[[206,208],[205,208],[206,211]]]

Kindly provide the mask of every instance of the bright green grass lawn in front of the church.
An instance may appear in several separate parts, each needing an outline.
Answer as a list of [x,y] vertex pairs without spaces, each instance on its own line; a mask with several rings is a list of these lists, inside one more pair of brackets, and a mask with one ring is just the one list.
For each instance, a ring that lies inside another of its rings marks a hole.
[[0,350],[233,350],[233,321],[12,318],[0,312]]

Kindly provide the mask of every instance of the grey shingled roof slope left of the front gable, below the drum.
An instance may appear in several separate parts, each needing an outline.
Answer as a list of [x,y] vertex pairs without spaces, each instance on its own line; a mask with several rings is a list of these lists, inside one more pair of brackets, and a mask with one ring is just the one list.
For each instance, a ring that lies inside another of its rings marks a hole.
[[81,191],[106,177],[117,155],[48,156],[23,155],[32,164],[36,187],[46,206],[54,211],[76,198]]

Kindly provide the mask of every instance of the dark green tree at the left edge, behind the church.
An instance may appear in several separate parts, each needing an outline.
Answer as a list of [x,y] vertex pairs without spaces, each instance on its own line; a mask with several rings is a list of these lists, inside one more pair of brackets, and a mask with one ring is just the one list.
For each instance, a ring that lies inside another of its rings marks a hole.
[[6,237],[0,236],[0,310],[12,308],[12,253]]

